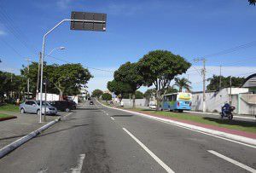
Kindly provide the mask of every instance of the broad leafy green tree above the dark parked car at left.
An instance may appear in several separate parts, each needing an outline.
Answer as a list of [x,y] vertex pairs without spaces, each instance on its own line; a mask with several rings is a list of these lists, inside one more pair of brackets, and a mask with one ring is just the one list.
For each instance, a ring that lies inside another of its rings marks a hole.
[[61,66],[53,64],[46,66],[45,69],[45,78],[48,78],[49,82],[58,89],[61,99],[63,94],[67,94],[67,91],[69,93],[78,92],[90,78],[93,78],[88,69],[81,64],[63,64]]

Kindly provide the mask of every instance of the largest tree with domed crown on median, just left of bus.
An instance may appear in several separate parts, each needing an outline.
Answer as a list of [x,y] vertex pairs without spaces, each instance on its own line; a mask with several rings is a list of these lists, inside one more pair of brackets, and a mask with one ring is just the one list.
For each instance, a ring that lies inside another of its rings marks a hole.
[[138,70],[145,86],[156,89],[157,110],[160,110],[161,95],[175,76],[186,72],[191,64],[180,55],[166,50],[154,50],[138,61]]

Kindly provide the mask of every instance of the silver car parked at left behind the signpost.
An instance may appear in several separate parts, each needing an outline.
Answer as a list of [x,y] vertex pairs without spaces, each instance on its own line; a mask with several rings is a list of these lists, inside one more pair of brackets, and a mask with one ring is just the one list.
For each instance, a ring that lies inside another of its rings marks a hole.
[[[56,107],[52,107],[48,102],[42,101],[42,113],[44,113],[44,106],[46,107],[47,115],[55,115],[57,113]],[[40,114],[40,101],[25,101],[20,104],[21,113],[37,113]]]

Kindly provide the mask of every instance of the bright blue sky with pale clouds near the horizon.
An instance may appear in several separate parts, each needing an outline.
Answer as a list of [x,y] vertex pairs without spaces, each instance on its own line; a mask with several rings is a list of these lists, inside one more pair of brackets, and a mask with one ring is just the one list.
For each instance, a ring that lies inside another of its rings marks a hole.
[[38,61],[44,34],[69,19],[71,11],[106,13],[107,31],[71,31],[69,22],[64,23],[46,38],[45,49],[48,54],[64,46],[52,54],[62,61],[45,61],[88,67],[94,76],[89,91],[106,90],[121,64],[136,62],[154,49],[190,61],[183,77],[197,91],[202,90],[202,63],[195,58],[207,59],[207,78],[219,75],[219,66],[224,76],[256,72],[256,7],[247,0],[0,0],[0,70],[19,74],[26,58]]

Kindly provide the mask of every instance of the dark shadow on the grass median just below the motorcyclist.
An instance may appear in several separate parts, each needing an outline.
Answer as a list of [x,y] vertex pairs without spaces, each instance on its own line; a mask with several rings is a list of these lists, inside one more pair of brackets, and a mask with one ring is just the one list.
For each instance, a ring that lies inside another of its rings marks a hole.
[[245,122],[240,120],[230,120],[230,119],[220,119],[220,118],[210,118],[210,117],[204,117],[204,119],[207,119],[208,121],[213,121],[218,124],[229,124],[229,125],[239,125],[241,127],[255,127],[255,122]]

